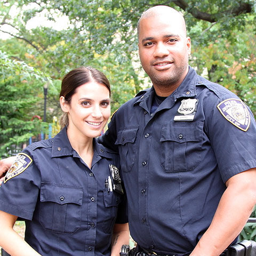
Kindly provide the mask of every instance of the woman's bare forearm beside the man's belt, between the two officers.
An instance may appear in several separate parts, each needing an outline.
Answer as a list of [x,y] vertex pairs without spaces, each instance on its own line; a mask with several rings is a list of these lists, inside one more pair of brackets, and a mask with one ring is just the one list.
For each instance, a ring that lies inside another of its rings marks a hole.
[[130,234],[128,223],[115,224],[111,242],[111,256],[119,256],[122,245],[129,245],[129,239]]

